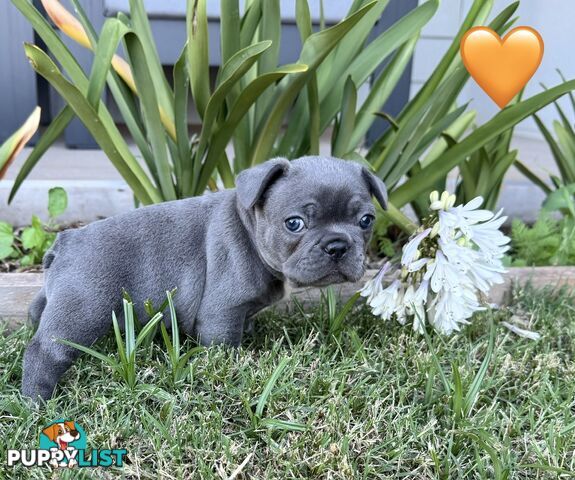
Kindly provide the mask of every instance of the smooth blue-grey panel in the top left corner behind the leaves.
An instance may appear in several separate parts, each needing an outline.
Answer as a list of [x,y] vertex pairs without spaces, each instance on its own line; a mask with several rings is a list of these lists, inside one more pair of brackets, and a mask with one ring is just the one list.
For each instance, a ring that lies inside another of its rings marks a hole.
[[6,140],[37,105],[36,74],[24,55],[34,42],[32,27],[8,0],[0,2],[0,142]]

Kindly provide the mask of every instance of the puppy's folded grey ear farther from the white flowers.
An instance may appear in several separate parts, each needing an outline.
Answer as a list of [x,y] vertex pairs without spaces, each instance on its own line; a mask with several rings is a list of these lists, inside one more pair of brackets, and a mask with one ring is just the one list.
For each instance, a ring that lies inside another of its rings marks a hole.
[[236,188],[242,207],[247,210],[252,208],[274,180],[283,175],[288,168],[288,160],[274,158],[241,172],[236,179]]

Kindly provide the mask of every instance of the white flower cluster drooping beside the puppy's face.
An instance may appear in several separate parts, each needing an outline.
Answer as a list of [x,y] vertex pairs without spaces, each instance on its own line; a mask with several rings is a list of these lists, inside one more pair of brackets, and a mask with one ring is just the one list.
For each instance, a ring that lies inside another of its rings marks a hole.
[[500,230],[507,217],[479,210],[483,198],[455,204],[455,195],[430,195],[431,215],[403,247],[401,265],[387,262],[361,289],[374,315],[423,331],[427,318],[450,334],[478,310],[493,284],[502,283],[510,241]]

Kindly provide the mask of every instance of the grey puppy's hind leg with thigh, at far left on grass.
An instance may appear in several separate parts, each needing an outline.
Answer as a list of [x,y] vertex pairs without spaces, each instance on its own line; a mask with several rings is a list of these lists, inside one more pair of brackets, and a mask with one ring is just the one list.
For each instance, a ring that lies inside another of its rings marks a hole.
[[[69,340],[89,346],[105,335],[111,325],[108,308],[85,305],[71,290],[51,293],[42,321],[24,354],[22,394],[47,400],[80,351],[60,343]],[[109,311],[112,310],[109,305]]]

